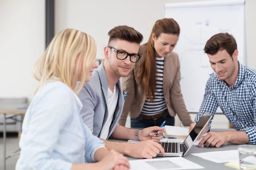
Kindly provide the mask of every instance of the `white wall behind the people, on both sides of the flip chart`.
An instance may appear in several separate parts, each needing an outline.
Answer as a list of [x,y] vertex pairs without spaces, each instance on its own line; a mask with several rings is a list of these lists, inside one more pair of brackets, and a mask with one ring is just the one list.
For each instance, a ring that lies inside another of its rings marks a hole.
[[[103,58],[102,47],[114,26],[134,27],[144,43],[155,21],[164,17],[165,3],[192,1],[200,0],[55,0],[55,34],[80,29],[98,42],[97,57]],[[246,0],[247,66],[256,69],[255,6],[256,0]],[[45,46],[45,0],[0,0],[0,25],[0,97],[31,99],[38,85],[32,68]]]

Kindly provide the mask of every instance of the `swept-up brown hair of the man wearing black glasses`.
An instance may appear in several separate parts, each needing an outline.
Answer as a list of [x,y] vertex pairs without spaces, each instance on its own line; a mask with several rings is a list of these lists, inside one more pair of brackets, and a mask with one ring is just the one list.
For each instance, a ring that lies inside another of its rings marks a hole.
[[140,44],[143,40],[143,35],[139,31],[129,26],[116,26],[108,32],[109,42],[115,39],[126,40],[128,42],[137,42]]

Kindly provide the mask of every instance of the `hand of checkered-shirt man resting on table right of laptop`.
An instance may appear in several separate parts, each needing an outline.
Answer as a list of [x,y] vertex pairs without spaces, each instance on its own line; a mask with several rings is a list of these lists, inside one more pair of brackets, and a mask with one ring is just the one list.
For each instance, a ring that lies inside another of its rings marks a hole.
[[201,147],[205,144],[205,147],[220,147],[222,144],[227,143],[226,132],[209,132],[201,142],[198,144]]

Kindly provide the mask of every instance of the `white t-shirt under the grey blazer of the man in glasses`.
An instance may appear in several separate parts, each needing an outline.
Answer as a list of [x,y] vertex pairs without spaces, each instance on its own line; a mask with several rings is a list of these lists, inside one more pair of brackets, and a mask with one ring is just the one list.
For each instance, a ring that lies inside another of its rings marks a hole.
[[108,88],[108,119],[105,123],[104,127],[102,128],[102,132],[100,133],[100,139],[107,139],[109,128],[113,119],[114,111],[116,110],[116,104],[118,100],[118,88],[116,85],[114,86],[113,93]]

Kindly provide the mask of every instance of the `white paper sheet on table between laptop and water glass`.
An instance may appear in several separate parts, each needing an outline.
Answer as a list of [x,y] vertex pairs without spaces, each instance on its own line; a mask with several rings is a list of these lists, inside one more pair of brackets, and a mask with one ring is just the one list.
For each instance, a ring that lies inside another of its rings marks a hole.
[[239,159],[238,150],[191,153],[191,155],[198,156],[200,158],[213,161],[215,163],[224,163],[224,162],[236,161],[237,159]]

